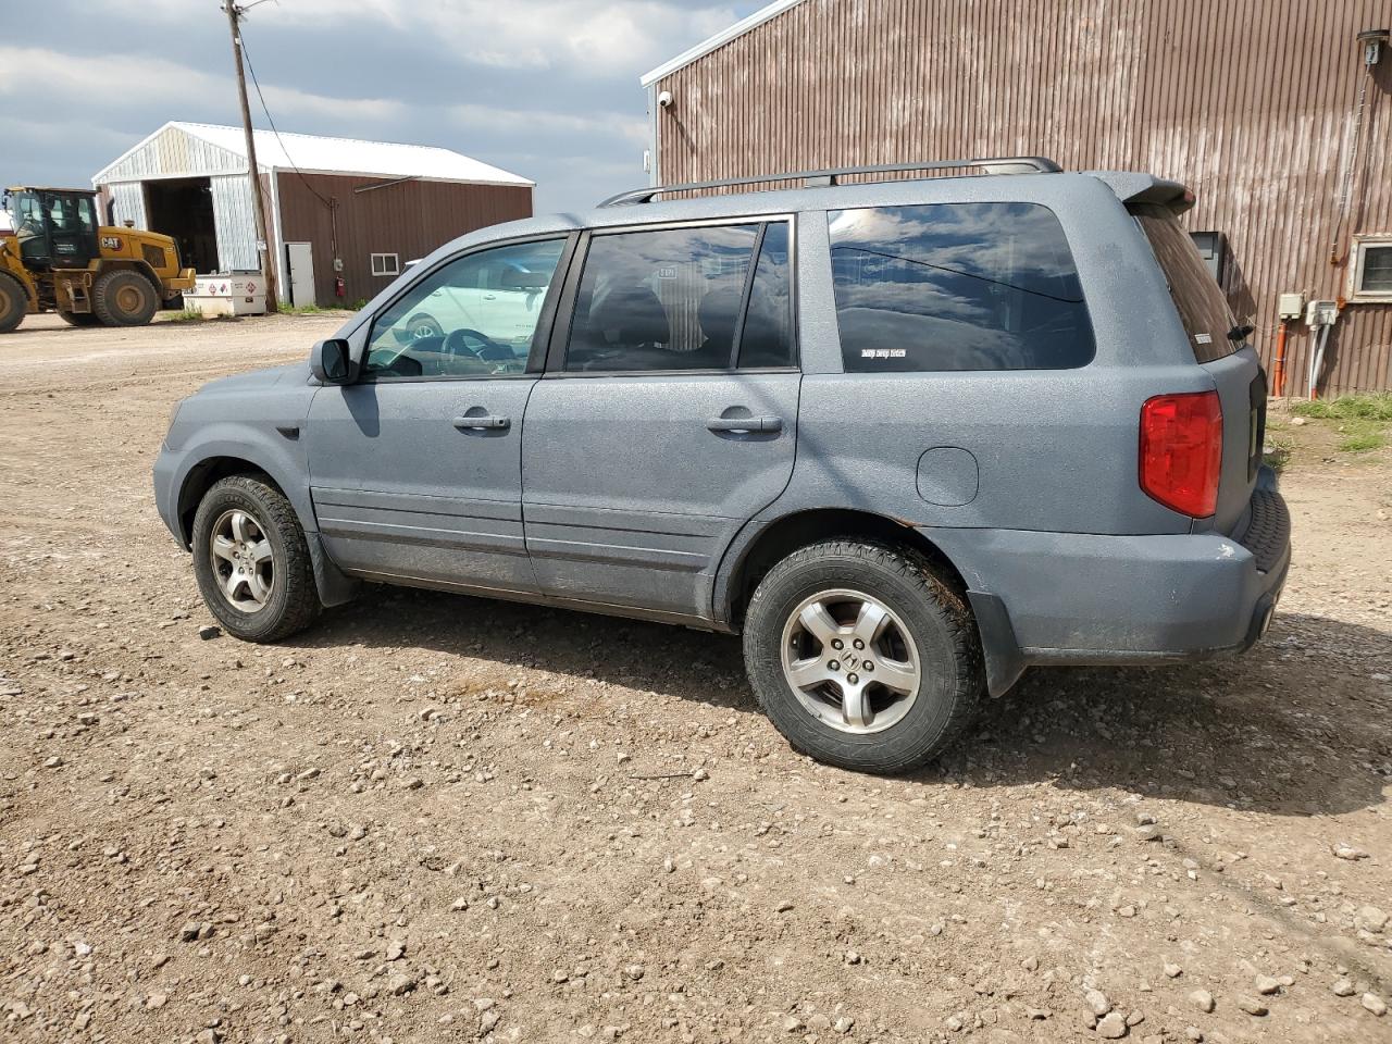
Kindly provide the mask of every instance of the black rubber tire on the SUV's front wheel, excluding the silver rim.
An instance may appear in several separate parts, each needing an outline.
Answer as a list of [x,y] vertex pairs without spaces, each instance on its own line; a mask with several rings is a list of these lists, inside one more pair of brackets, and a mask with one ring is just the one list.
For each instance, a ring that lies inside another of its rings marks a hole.
[[[238,608],[224,593],[220,569],[230,567],[212,550],[213,528],[231,511],[251,515],[270,543],[270,593],[253,611]],[[278,642],[308,628],[323,608],[295,509],[280,490],[252,475],[221,479],[203,494],[193,516],[193,575],[209,611],[244,642]]]

